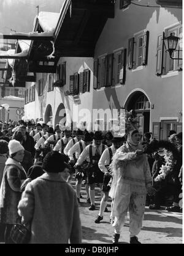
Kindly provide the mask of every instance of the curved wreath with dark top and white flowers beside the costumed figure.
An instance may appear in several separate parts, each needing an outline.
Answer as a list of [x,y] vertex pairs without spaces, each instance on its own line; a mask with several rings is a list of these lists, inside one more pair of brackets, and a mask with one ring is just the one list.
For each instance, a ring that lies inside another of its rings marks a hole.
[[178,151],[171,142],[166,140],[152,140],[152,142],[144,148],[144,153],[151,154],[155,152],[161,154],[166,162],[161,166],[159,174],[155,178],[155,182],[158,182],[164,180],[174,169],[178,158]]

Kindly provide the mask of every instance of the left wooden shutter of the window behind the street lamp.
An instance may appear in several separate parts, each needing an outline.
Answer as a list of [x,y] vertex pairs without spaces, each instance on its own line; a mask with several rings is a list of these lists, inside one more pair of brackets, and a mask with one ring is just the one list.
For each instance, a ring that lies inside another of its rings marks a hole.
[[157,50],[156,50],[156,75],[160,76],[163,74],[163,54],[164,54],[164,44],[163,44],[164,32],[158,36]]

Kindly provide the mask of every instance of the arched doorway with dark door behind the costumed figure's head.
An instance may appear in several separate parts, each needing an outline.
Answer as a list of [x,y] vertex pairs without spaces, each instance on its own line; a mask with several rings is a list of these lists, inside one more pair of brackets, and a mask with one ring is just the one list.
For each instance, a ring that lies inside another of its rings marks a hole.
[[142,135],[150,132],[150,102],[143,92],[133,92],[126,100],[125,108],[128,111],[133,110],[134,115],[137,116]]

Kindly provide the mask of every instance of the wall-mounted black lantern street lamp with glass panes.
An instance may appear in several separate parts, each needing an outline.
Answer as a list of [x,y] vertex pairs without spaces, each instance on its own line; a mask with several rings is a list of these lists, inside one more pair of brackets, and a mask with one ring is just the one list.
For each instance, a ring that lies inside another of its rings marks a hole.
[[179,39],[180,38],[178,38],[177,36],[173,36],[172,33],[170,34],[170,36],[163,38],[164,46],[166,47],[166,51],[169,52],[169,56],[170,56],[170,58],[172,58],[172,60],[182,60],[182,58],[173,58],[172,57],[172,52],[174,52],[176,50],[177,43],[178,43]]

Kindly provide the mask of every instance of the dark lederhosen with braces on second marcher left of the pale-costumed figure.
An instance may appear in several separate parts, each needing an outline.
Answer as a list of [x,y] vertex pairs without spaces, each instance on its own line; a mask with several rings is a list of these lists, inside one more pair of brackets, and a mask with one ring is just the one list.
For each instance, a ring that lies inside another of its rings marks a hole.
[[[99,156],[99,159],[96,159],[96,157],[93,156],[92,154],[92,148],[93,148],[93,145],[90,145],[90,164],[88,165],[88,170],[87,170],[87,182],[89,184],[103,183],[104,173],[98,167],[98,161],[100,159],[100,156]],[[102,144],[102,153],[104,150],[105,150],[105,145]]]

